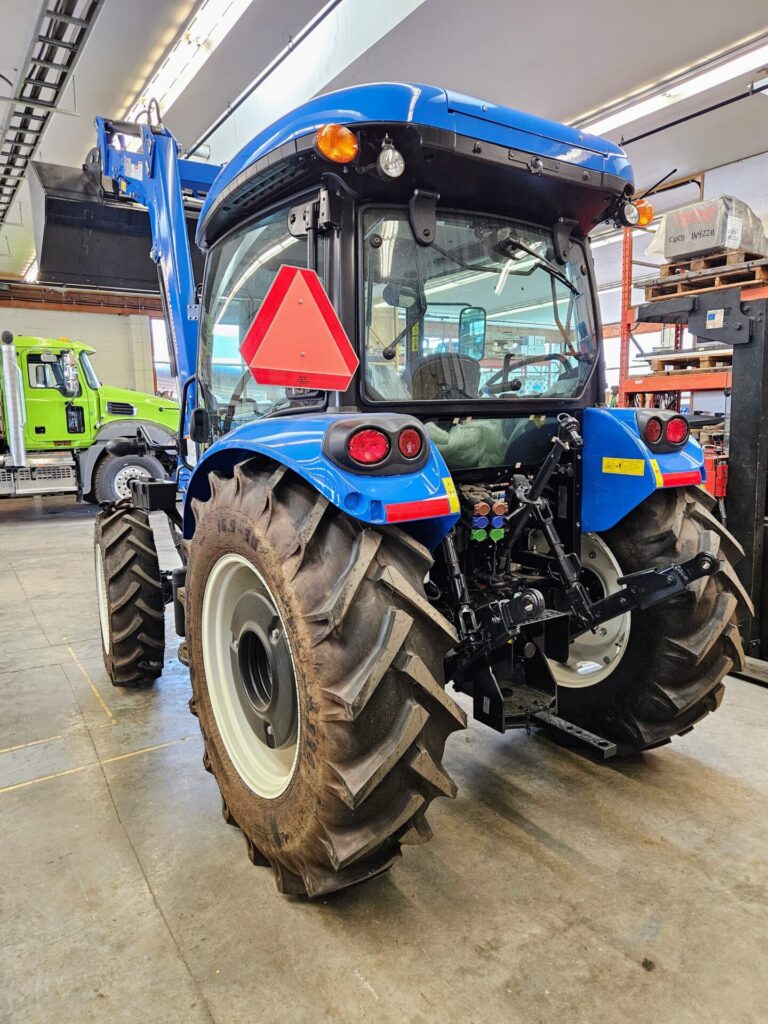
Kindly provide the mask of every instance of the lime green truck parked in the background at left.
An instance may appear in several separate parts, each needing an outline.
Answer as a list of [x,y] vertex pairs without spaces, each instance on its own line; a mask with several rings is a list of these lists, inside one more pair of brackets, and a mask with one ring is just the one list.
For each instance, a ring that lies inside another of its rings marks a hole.
[[130,497],[131,479],[167,476],[172,455],[114,455],[108,445],[147,434],[172,447],[178,404],[102,385],[94,349],[69,338],[16,337],[0,344],[0,497],[76,494],[90,502]]

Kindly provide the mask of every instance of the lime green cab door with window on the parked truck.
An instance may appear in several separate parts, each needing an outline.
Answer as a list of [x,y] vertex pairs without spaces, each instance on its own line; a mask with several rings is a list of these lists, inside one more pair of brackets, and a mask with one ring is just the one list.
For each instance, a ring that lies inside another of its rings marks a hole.
[[90,416],[80,368],[72,352],[33,351],[24,367],[30,451],[90,443]]

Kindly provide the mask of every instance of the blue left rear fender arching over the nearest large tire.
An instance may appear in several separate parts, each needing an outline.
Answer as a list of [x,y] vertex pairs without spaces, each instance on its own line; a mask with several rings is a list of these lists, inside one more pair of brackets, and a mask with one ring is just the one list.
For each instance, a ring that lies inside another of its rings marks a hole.
[[[459,518],[459,499],[442,456],[430,444],[425,465],[413,473],[393,476],[342,469],[324,455],[323,441],[333,423],[351,418],[349,414],[274,417],[246,423],[219,438],[206,451],[189,479],[184,538],[195,532],[191,500],[210,498],[209,474],[231,472],[239,463],[264,456],[302,476],[346,515],[377,526],[396,524],[434,548]],[[377,415],[366,416],[366,422],[375,424],[376,420]]]

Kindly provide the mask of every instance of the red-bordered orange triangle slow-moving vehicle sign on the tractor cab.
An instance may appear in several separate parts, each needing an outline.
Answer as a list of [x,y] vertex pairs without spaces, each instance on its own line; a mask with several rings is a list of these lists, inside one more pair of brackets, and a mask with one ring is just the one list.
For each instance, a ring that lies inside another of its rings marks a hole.
[[257,384],[343,391],[359,359],[314,270],[282,266],[240,346]]

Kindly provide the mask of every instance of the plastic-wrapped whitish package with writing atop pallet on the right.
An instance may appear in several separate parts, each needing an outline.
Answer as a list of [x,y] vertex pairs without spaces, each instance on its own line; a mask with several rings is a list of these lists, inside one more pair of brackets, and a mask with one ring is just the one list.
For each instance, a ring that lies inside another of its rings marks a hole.
[[739,251],[768,256],[768,239],[760,217],[733,196],[718,196],[666,213],[646,250],[649,256],[666,260]]

